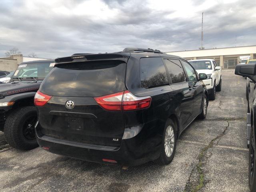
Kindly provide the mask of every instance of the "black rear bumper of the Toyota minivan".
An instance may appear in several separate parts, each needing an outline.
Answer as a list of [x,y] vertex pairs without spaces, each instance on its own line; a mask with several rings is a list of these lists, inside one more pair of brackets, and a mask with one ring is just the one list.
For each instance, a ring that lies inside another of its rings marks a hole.
[[[36,130],[36,135],[38,144],[48,147],[49,152],[90,162],[136,166],[160,156],[161,138],[148,138],[142,141],[140,134],[133,138],[122,139],[120,147],[82,144],[51,138],[40,134],[40,130]],[[102,159],[115,160],[117,163],[104,162]]]

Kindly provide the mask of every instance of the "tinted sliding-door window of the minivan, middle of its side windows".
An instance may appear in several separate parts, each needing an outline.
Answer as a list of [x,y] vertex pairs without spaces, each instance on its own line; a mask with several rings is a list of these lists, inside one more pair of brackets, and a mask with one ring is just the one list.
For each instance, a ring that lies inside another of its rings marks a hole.
[[173,84],[186,82],[186,76],[181,66],[180,60],[164,59],[164,63],[166,64]]

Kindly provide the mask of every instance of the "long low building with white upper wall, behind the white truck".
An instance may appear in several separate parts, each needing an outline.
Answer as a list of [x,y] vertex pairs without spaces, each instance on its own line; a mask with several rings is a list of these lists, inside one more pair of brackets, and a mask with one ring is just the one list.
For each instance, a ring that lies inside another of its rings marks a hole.
[[240,56],[250,56],[250,59],[256,59],[256,46],[185,50],[166,53],[180,56],[186,60],[214,59],[222,68],[234,69],[236,65],[239,64]]

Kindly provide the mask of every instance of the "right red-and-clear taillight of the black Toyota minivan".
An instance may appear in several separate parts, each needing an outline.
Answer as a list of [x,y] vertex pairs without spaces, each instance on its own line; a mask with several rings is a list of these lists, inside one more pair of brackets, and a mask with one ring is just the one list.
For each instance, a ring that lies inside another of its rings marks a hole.
[[110,111],[130,111],[148,108],[151,97],[136,97],[130,91],[122,91],[94,98],[102,108]]

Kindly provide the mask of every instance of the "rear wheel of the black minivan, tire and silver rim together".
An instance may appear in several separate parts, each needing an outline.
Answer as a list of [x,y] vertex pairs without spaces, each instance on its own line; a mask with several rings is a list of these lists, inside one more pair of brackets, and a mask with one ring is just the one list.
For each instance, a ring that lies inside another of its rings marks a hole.
[[164,128],[161,154],[156,160],[158,164],[168,165],[172,162],[176,151],[176,130],[177,128],[174,122],[168,119]]

